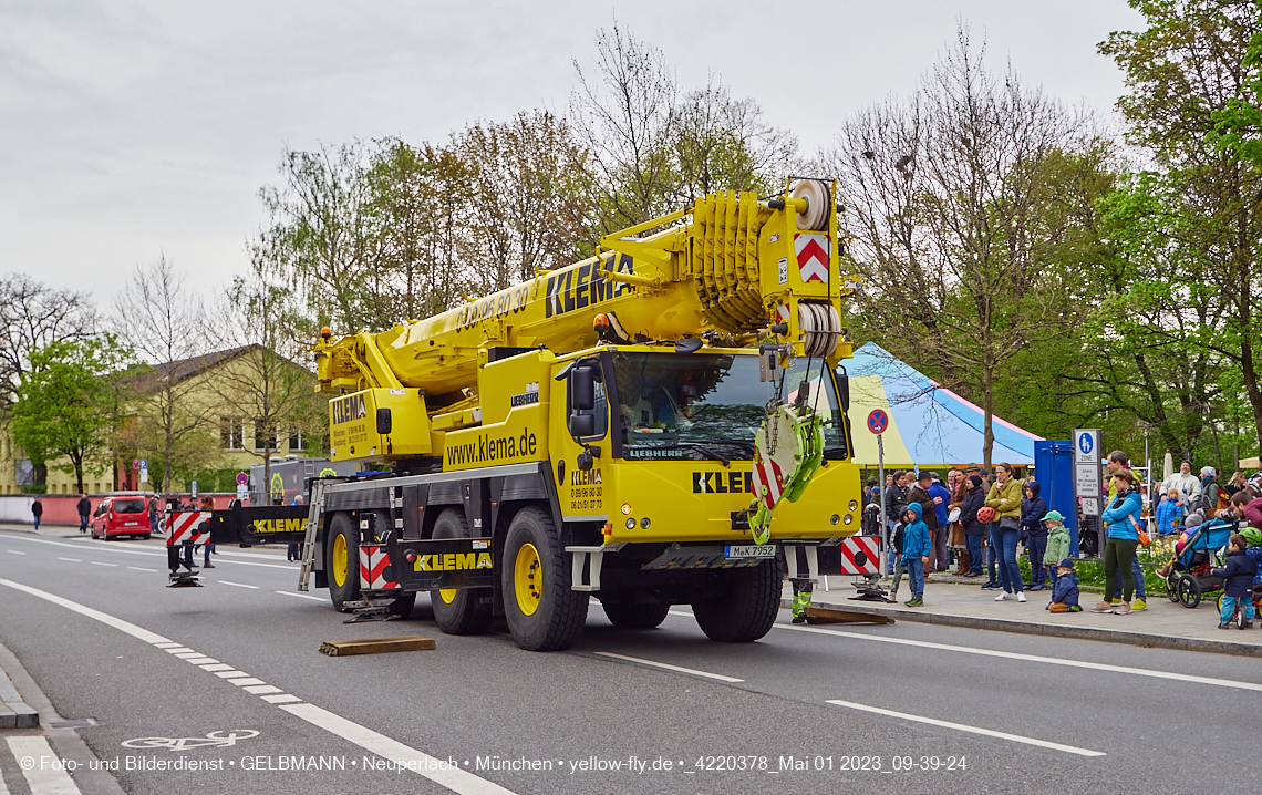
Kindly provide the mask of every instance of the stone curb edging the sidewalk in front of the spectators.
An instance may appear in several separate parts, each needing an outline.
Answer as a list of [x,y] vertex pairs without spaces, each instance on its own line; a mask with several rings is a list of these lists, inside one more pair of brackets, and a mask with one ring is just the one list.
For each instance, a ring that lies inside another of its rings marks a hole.
[[[1199,637],[1177,637],[1171,635],[1156,635],[1152,632],[1129,632],[1126,630],[1099,630],[1095,627],[1075,627],[1063,623],[1035,623],[1031,621],[1012,621],[1010,618],[976,618],[972,616],[954,616],[949,613],[924,613],[912,610],[899,610],[895,607],[876,607],[864,602],[817,602],[819,607],[833,607],[852,613],[871,613],[895,618],[897,621],[915,621],[917,623],[933,623],[946,627],[962,627],[965,630],[992,630],[997,632],[1016,632],[1020,635],[1044,635],[1047,637],[1071,637],[1075,640],[1093,640],[1106,644],[1126,644],[1128,646],[1145,646],[1151,649],[1174,649],[1177,651],[1205,651],[1210,654],[1229,654],[1243,657],[1262,657],[1262,644],[1239,644],[1235,641],[1214,641]],[[793,599],[780,599],[780,607],[793,608]]]

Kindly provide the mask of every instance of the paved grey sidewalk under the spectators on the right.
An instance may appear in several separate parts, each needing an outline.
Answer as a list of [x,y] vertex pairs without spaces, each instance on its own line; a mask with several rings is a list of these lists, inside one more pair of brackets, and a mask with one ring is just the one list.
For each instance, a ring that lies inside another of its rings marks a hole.
[[[935,574],[934,579],[940,577]],[[1002,592],[982,591],[982,582],[984,578],[929,583],[925,586],[924,607],[905,607],[902,602],[911,598],[906,579],[899,587],[899,603],[887,604],[851,601],[849,597],[856,596],[851,578],[829,577],[830,591],[825,592],[823,583],[817,583],[813,604],[856,613],[873,613],[896,621],[1262,657],[1262,630],[1218,628],[1217,596],[1189,610],[1170,602],[1165,596],[1150,594],[1152,601],[1148,602],[1148,610],[1129,616],[1116,616],[1092,613],[1090,607],[1100,597],[1083,593],[1080,597],[1083,612],[1049,613],[1044,610],[1050,601],[1047,591],[1027,593],[1026,598],[1030,601],[1026,603],[1017,602],[1012,596],[1005,602],[996,602],[994,597]],[[885,580],[882,586],[888,589],[890,582]],[[785,583],[781,606],[791,604],[793,588]],[[1254,623],[1262,626],[1258,620]]]

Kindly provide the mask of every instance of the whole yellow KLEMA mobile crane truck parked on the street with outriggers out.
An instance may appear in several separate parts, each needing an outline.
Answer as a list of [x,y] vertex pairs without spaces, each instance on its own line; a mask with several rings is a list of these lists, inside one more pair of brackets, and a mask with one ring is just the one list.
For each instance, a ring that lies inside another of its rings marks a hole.
[[502,615],[525,649],[572,645],[591,594],[618,626],[690,604],[713,640],[761,637],[785,573],[859,527],[832,197],[709,194],[457,309],[324,329],[331,456],[380,471],[217,514],[213,540],[302,538],[299,588],[338,610],[428,591],[445,632]]

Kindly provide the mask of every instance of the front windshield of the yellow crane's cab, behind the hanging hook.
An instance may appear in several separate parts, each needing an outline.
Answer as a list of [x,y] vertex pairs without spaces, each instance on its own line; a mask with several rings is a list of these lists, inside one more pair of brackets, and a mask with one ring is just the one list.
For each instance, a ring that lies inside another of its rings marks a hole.
[[[758,379],[756,356],[615,353],[622,457],[750,461],[753,437],[776,385]],[[820,360],[785,371],[781,400],[801,396],[820,414],[824,457],[848,458],[837,386]]]

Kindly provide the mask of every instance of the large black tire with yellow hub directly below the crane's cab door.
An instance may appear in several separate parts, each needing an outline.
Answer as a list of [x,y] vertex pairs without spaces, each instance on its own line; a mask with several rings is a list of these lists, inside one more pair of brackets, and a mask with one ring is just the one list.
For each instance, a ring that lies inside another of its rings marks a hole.
[[[534,553],[526,550],[534,546]],[[531,562],[533,568],[525,564]],[[517,568],[522,564],[522,592],[517,591]],[[570,589],[570,559],[562,549],[551,516],[538,507],[524,507],[509,524],[500,560],[504,612],[509,631],[529,651],[569,649],[587,623],[588,594]],[[528,615],[528,610],[531,612]]]

